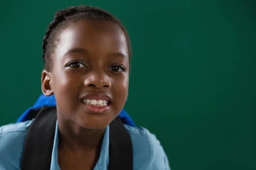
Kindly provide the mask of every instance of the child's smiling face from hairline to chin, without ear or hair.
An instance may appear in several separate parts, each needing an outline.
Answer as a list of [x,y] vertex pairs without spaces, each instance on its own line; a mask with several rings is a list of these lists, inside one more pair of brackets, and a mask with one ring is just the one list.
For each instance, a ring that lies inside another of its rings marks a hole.
[[[105,128],[118,116],[128,96],[125,34],[113,23],[86,20],[71,24],[58,37],[49,83],[58,114],[87,129]],[[87,95],[97,94],[110,97],[111,105],[103,109],[105,112],[95,113],[81,102],[95,98]]]

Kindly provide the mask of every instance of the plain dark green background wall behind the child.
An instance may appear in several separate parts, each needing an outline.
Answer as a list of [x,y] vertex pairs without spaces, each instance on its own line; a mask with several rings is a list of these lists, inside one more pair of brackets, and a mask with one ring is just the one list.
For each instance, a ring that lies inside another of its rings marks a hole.
[[255,0],[2,1],[0,125],[41,94],[47,25],[80,4],[127,27],[134,57],[125,110],[157,135],[172,170],[256,170]]

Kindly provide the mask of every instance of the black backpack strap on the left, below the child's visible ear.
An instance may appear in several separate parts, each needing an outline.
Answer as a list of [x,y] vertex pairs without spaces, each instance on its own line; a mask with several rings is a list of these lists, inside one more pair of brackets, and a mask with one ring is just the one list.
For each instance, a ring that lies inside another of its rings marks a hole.
[[50,170],[56,120],[56,107],[38,112],[26,135],[21,170]]

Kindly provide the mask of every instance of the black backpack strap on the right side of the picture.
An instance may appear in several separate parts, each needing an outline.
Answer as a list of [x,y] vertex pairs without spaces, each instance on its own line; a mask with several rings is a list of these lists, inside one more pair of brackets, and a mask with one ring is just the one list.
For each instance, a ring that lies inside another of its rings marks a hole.
[[109,125],[109,170],[133,170],[131,136],[117,117]]

